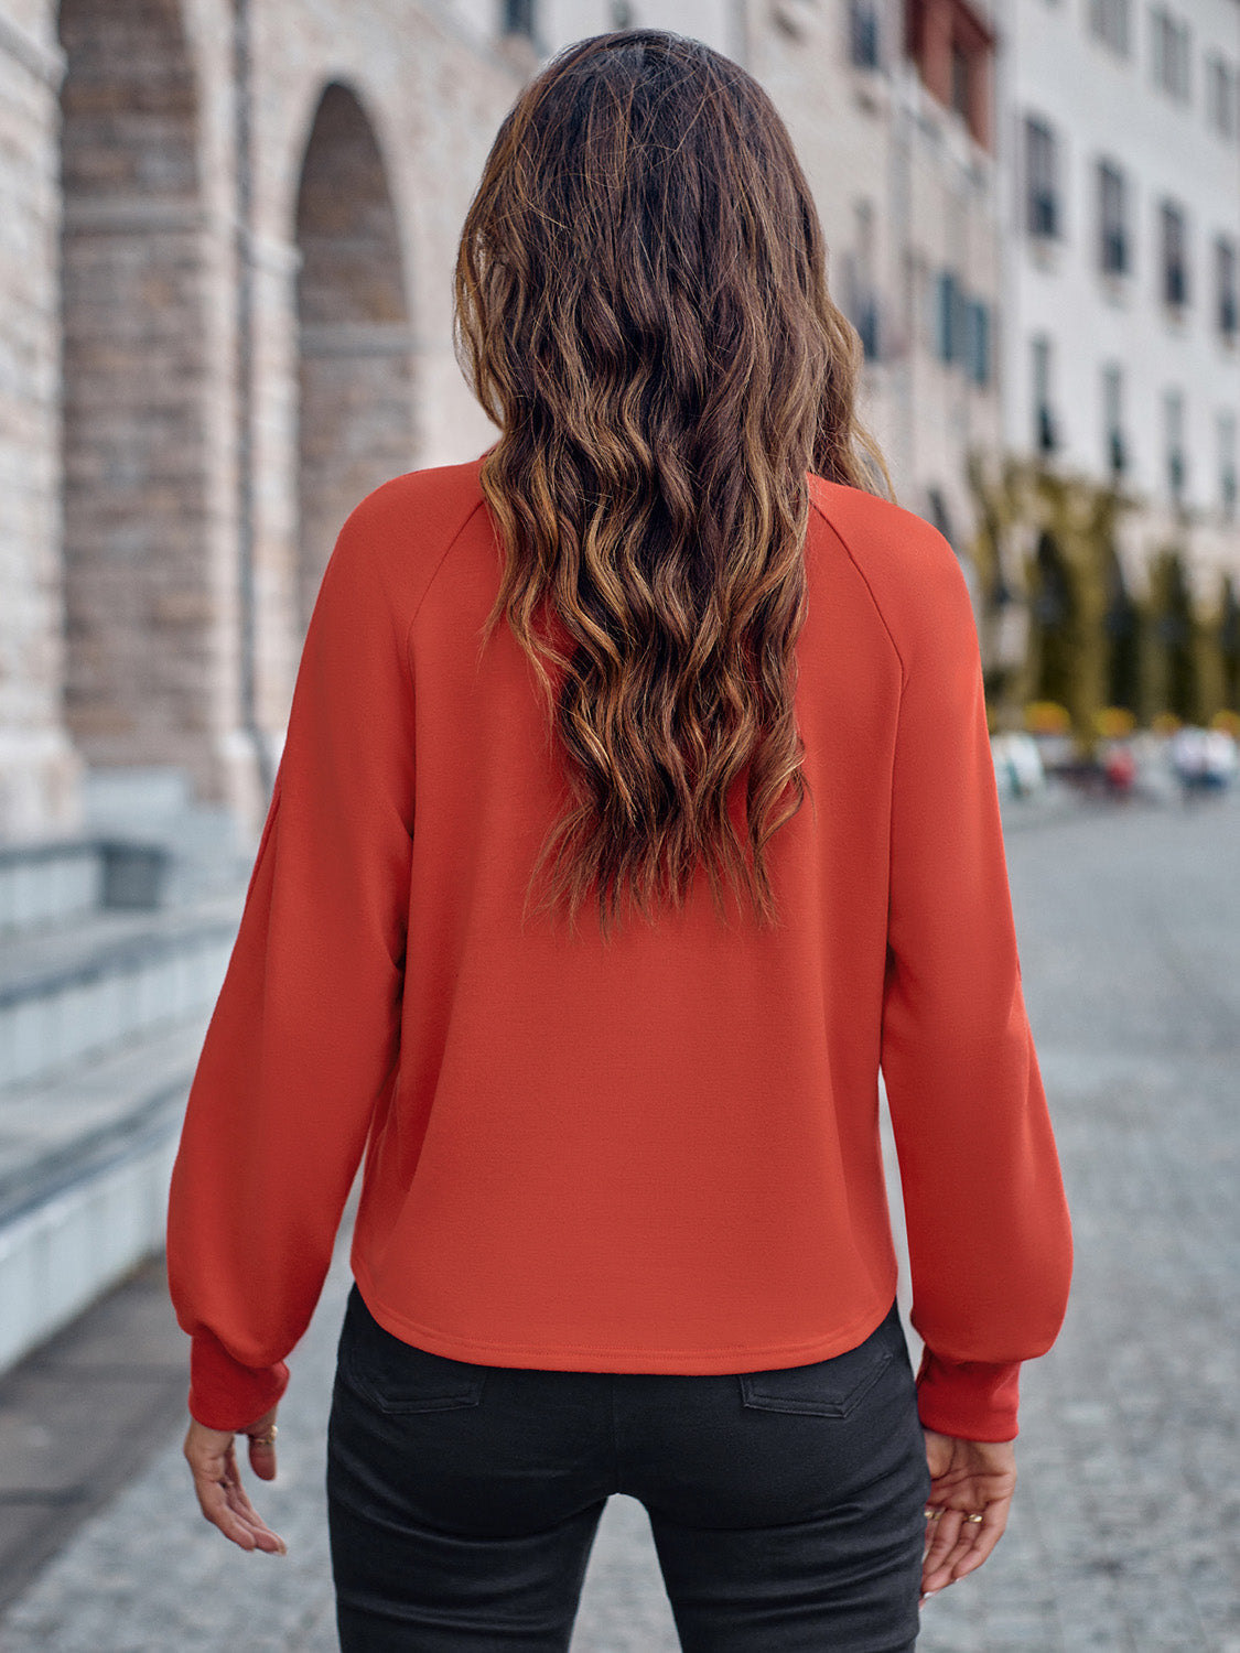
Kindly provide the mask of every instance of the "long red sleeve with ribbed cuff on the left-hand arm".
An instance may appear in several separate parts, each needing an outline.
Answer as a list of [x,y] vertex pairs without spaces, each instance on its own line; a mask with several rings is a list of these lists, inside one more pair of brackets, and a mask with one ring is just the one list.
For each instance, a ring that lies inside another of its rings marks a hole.
[[190,1413],[288,1385],[372,1112],[395,1076],[413,835],[413,684],[362,501],[327,560],[167,1205]]

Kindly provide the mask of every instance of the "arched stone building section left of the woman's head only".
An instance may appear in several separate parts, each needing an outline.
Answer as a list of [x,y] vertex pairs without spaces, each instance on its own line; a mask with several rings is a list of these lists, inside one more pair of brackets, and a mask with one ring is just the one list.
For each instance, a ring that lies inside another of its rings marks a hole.
[[339,522],[484,436],[446,271],[524,68],[398,0],[3,7],[3,836],[83,770],[261,813]]

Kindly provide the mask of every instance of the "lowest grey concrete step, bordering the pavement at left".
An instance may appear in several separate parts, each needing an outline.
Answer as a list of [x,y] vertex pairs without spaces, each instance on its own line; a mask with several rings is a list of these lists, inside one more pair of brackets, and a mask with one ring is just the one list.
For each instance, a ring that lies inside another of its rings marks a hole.
[[0,1370],[164,1243],[210,1007],[0,1096]]

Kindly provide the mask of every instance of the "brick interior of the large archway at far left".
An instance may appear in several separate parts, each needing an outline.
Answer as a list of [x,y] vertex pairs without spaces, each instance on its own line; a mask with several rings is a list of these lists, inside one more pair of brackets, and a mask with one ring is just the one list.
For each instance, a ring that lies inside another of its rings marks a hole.
[[66,724],[93,765],[210,788],[198,93],[177,0],[63,0],[58,28]]

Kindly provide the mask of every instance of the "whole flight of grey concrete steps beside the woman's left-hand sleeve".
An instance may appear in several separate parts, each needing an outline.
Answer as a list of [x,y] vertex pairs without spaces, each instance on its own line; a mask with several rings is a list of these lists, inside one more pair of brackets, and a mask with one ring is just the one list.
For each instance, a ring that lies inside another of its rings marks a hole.
[[0,1372],[164,1243],[255,845],[175,770],[104,772],[0,846]]

